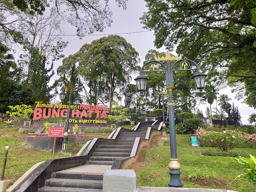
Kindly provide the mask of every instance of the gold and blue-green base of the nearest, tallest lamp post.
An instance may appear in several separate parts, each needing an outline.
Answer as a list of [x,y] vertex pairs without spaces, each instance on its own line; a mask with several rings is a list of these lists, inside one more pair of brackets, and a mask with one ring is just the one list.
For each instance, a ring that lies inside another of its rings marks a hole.
[[170,163],[168,165],[170,181],[168,183],[169,187],[182,187],[183,184],[180,181],[180,163],[178,158],[170,158]]

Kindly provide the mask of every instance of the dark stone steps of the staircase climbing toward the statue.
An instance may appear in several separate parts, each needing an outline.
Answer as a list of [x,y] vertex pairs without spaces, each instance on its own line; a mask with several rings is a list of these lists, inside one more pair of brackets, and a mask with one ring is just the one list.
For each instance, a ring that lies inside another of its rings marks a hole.
[[[115,145],[98,145],[90,156],[87,165],[111,166],[115,159],[130,157],[136,137],[145,138],[148,127],[159,125],[142,125],[136,132],[122,132]],[[111,168],[111,167],[110,167]],[[37,192],[102,192],[103,174],[85,174],[83,172],[58,171],[46,180],[45,186]]]

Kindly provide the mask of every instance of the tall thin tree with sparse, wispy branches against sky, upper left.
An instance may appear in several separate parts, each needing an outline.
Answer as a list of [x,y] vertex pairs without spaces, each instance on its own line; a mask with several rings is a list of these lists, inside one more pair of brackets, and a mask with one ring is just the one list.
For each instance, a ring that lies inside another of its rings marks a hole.
[[27,67],[27,81],[33,75],[37,64],[37,58],[32,58],[38,55],[34,54],[35,47],[43,53],[46,61],[50,59],[55,61],[64,57],[61,52],[68,42],[62,41],[60,37],[63,32],[56,12],[28,16],[23,22],[20,22],[18,29],[24,34],[24,42],[20,47],[22,53],[18,62],[21,67]]

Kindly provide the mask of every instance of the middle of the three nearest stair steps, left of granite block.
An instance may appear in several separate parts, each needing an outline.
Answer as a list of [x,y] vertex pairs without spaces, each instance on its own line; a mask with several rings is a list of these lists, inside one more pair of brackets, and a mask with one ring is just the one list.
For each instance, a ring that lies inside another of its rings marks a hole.
[[81,180],[81,179],[62,179],[50,178],[45,181],[45,185],[49,187],[71,187],[71,188],[89,188],[102,189],[103,181],[99,180]]

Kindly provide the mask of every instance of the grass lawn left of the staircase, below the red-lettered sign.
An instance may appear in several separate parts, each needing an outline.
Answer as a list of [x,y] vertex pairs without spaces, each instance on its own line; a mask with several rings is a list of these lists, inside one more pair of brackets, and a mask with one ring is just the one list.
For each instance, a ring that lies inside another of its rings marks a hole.
[[[66,157],[63,153],[52,154],[50,151],[35,150],[25,145],[26,134],[18,133],[18,128],[0,129],[0,164],[1,173],[5,157],[5,146],[10,149],[7,155],[4,178],[11,178],[12,185],[35,163],[45,161],[49,158]],[[69,152],[76,154],[84,143],[70,143]]]

